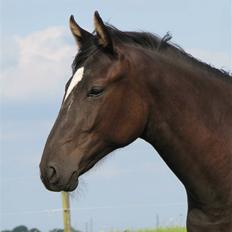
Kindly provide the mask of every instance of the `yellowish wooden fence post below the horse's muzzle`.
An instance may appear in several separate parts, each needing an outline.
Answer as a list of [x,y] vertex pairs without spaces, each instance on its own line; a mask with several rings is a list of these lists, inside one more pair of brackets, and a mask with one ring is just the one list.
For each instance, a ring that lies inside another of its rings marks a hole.
[[64,218],[64,232],[71,232],[69,193],[61,192]]

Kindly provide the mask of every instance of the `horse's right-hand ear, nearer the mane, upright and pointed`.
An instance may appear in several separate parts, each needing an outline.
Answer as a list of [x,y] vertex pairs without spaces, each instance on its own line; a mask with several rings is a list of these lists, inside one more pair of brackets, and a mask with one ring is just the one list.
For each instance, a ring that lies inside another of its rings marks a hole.
[[114,53],[113,42],[110,33],[97,11],[94,13],[94,26],[97,33],[98,45],[105,48],[107,51]]

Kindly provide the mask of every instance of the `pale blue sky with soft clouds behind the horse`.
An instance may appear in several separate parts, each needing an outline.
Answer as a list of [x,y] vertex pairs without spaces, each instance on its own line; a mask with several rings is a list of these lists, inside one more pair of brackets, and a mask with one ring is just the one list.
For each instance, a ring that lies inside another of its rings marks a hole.
[[[0,0],[0,229],[62,227],[61,195],[39,178],[77,47],[68,18],[93,30],[93,13],[122,30],[169,31],[193,56],[232,71],[230,0]],[[184,224],[182,184],[143,140],[110,154],[71,194],[72,225],[85,231]],[[157,216],[158,215],[158,216]]]

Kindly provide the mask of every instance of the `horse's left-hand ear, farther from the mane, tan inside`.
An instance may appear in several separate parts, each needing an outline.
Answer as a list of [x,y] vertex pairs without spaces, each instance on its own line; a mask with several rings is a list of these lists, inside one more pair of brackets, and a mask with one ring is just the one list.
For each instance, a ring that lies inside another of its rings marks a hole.
[[71,30],[79,48],[81,48],[85,42],[93,39],[93,35],[91,33],[84,30],[76,23],[73,15],[70,16],[69,26],[70,26],[70,30]]

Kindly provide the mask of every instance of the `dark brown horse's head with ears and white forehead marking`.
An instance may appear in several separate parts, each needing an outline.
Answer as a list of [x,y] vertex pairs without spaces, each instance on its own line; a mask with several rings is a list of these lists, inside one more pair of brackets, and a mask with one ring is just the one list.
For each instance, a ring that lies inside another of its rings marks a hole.
[[141,83],[127,49],[112,38],[98,12],[94,25],[92,34],[70,18],[79,51],[40,163],[42,181],[52,191],[74,190],[80,175],[145,127]]

